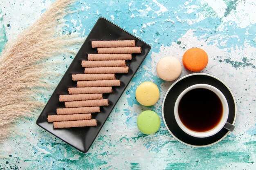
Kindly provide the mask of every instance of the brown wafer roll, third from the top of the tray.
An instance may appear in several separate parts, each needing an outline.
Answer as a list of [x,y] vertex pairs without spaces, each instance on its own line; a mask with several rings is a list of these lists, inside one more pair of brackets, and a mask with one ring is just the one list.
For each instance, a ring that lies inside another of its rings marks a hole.
[[88,54],[88,60],[132,60],[132,54]]

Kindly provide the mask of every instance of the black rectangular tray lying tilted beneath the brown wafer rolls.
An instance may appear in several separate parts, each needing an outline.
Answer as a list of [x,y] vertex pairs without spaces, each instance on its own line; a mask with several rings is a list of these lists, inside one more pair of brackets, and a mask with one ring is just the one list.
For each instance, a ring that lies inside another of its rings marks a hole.
[[[92,48],[93,40],[135,40],[136,46],[141,46],[142,50],[140,54],[132,54],[131,61],[126,61],[129,66],[128,73],[116,74],[116,79],[121,80],[121,86],[113,87],[113,93],[103,94],[103,98],[109,100],[109,106],[103,106],[100,113],[92,114],[92,119],[97,119],[97,126],[54,129],[53,124],[47,122],[47,116],[56,115],[56,108],[65,108],[64,102],[58,101],[59,95],[67,95],[68,88],[76,87],[76,81],[72,81],[71,75],[83,74],[84,68],[81,66],[81,61],[87,60],[88,54],[97,53],[97,48]],[[81,152],[87,152],[150,49],[150,45],[109,20],[100,17],[38,117],[36,124]]]

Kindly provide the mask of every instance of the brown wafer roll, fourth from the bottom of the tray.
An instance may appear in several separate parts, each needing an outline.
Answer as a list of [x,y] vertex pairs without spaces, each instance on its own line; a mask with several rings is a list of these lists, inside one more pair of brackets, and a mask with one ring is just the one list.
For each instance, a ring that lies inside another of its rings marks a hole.
[[108,99],[81,100],[65,102],[66,108],[88,107],[88,106],[108,106]]

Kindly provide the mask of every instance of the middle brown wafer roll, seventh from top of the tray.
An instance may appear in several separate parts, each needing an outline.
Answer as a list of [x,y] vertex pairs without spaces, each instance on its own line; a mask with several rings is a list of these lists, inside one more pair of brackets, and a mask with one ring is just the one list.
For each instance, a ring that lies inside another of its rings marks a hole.
[[120,86],[119,79],[109,80],[93,80],[93,81],[78,81],[77,87],[107,87],[107,86]]

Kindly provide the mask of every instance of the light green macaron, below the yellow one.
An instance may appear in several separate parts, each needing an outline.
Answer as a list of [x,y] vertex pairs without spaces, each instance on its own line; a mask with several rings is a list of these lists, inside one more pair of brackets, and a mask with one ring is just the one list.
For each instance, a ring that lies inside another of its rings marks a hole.
[[146,110],[139,114],[137,126],[142,133],[146,135],[153,134],[160,128],[160,118],[154,111]]

